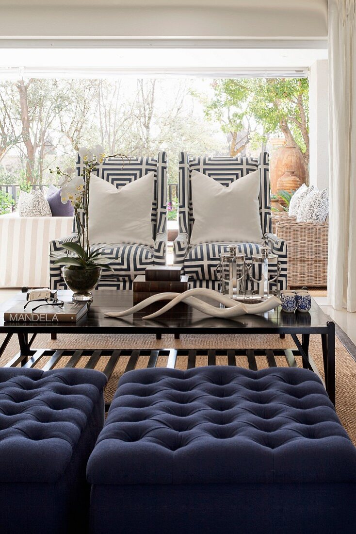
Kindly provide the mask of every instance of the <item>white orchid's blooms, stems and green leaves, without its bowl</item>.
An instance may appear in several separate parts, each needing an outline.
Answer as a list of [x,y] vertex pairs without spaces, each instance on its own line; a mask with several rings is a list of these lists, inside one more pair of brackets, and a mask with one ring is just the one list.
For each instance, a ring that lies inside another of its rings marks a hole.
[[[50,169],[51,174],[57,174],[62,178],[60,182],[61,201],[66,204],[70,202],[74,207],[74,217],[78,242],[65,242],[62,247],[66,250],[67,255],[56,257],[54,264],[73,266],[74,269],[95,269],[105,267],[113,271],[109,263],[109,258],[101,256],[101,249],[90,249],[89,241],[89,195],[90,195],[90,174],[97,170],[97,166],[104,158],[104,149],[101,145],[95,148],[86,148],[85,146],[78,150],[78,154],[83,160],[83,172],[80,176],[75,175],[73,167],[67,167],[62,171],[59,167]],[[124,164],[126,156],[123,154],[114,154],[110,158],[120,157]]]

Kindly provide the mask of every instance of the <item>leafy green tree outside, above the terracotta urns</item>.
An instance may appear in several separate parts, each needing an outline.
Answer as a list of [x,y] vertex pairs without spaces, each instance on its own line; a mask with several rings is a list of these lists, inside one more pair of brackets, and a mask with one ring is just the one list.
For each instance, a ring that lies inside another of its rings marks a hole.
[[[233,78],[215,80],[212,98],[197,96],[209,120],[228,136],[230,155],[241,153],[255,136],[266,140],[283,133],[303,155],[309,176],[309,108],[306,78]],[[258,130],[262,130],[262,133]]]

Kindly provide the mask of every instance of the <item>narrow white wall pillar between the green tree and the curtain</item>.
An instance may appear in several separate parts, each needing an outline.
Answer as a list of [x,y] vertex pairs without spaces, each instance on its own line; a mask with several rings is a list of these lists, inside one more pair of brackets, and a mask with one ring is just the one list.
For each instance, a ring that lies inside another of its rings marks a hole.
[[327,59],[311,65],[309,81],[310,184],[324,189],[329,185]]

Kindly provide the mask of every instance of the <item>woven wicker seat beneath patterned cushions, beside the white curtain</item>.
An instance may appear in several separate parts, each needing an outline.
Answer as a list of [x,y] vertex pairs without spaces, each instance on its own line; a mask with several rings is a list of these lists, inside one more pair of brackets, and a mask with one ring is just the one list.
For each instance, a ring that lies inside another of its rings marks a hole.
[[288,285],[327,286],[329,223],[297,223],[283,216],[275,234],[287,241]]

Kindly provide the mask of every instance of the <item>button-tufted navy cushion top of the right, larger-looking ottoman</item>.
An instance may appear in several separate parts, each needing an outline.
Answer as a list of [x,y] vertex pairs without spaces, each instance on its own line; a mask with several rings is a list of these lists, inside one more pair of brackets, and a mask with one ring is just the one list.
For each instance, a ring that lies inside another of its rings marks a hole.
[[304,369],[122,376],[89,459],[93,484],[354,482],[356,452]]

